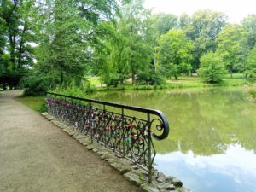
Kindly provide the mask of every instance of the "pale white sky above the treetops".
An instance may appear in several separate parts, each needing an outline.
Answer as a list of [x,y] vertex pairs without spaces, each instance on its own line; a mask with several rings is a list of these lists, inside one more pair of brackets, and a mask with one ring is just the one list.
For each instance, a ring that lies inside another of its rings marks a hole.
[[256,14],[256,0],[145,0],[144,7],[153,13],[192,15],[196,10],[211,9],[228,15],[231,23],[240,21],[249,14]]

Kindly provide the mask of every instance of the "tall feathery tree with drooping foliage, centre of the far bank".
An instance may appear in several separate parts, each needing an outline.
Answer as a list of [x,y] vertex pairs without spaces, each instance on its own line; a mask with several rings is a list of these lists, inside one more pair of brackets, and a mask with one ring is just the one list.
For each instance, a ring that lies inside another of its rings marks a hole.
[[[116,79],[123,84],[131,74],[136,85],[137,73],[150,65],[153,49],[147,42],[145,20],[148,11],[143,9],[143,1],[123,1],[120,17],[117,19],[113,37],[104,41],[105,48],[99,51],[98,60],[102,66],[102,78],[106,83]],[[107,73],[106,73],[107,72]]]

